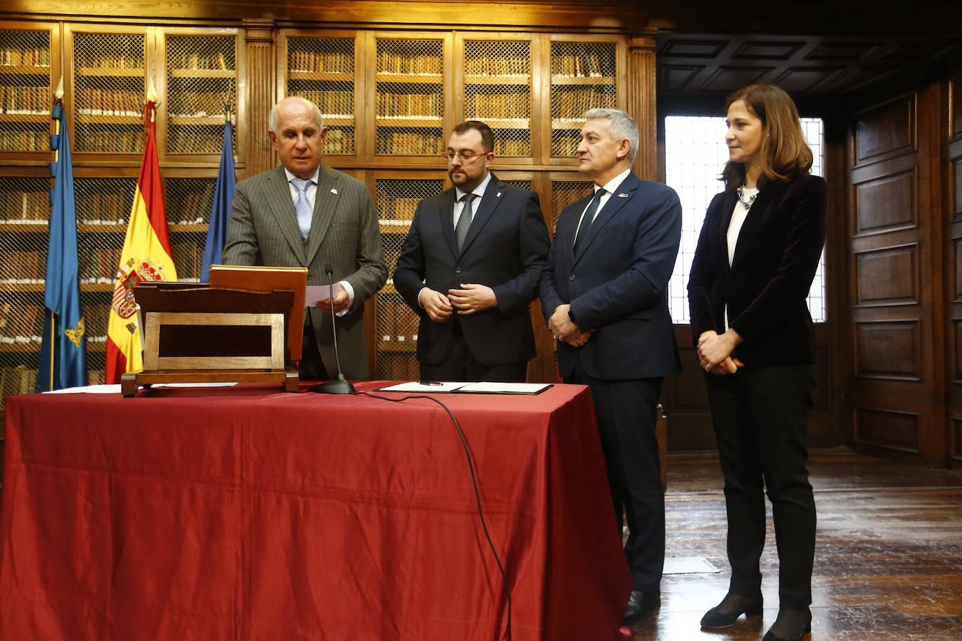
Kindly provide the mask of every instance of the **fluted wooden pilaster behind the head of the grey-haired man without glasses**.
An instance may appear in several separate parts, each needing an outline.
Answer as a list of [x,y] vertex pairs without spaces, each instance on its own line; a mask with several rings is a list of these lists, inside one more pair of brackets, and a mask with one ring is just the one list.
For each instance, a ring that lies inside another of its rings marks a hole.
[[632,37],[628,41],[627,111],[638,123],[638,156],[633,169],[639,178],[658,180],[658,122],[656,117],[657,65],[655,39]]

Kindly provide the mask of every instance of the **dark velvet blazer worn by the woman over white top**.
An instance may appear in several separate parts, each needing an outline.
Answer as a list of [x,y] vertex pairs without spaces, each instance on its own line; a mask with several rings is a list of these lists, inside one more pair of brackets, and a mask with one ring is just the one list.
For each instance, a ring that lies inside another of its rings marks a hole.
[[728,266],[734,189],[708,206],[688,280],[692,339],[728,323],[745,342],[734,356],[747,367],[815,361],[815,330],[805,299],[825,242],[827,190],[818,176],[769,182],[748,211]]

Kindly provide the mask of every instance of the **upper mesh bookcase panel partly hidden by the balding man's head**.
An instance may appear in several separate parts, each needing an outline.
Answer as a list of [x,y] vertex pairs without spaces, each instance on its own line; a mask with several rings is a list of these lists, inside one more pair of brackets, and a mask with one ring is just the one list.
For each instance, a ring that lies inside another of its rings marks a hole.
[[357,40],[351,35],[291,35],[287,43],[286,95],[317,105],[327,127],[324,155],[357,154],[355,74]]

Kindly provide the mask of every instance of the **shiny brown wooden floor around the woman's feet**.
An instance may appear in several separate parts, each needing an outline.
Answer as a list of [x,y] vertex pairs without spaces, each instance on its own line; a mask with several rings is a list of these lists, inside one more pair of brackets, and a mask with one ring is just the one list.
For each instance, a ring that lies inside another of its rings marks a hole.
[[[813,453],[810,470],[819,516],[811,640],[962,639],[962,473],[845,449]],[[666,575],[661,609],[633,627],[636,641],[760,639],[778,611],[771,506],[764,616],[711,632],[698,621],[728,585],[716,456],[670,456],[666,516],[667,555],[705,557],[720,572]]]

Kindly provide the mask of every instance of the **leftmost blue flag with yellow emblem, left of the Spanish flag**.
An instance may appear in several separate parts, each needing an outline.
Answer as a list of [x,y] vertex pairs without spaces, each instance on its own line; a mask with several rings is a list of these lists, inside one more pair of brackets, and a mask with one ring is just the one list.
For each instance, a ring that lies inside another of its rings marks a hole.
[[50,149],[59,150],[50,163],[54,188],[50,192],[50,243],[43,293],[43,344],[37,372],[37,391],[87,384],[87,331],[80,310],[77,280],[77,209],[73,195],[73,162],[66,134],[63,106],[51,114],[60,134],[50,136]]

